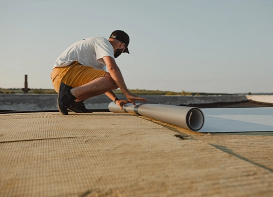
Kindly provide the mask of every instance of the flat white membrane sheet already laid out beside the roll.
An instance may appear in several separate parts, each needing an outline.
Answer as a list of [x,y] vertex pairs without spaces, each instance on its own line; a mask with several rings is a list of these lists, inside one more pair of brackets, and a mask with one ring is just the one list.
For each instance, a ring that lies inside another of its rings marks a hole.
[[206,122],[199,132],[273,131],[273,107],[202,109]]

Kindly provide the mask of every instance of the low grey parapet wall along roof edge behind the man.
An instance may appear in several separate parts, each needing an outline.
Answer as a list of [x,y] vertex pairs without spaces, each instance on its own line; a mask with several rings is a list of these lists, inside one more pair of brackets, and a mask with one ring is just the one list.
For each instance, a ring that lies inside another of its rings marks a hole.
[[[31,111],[31,110],[58,110],[57,106],[58,95],[46,94],[0,94],[0,110],[16,110],[16,111]],[[118,95],[119,98],[125,99],[123,95]],[[261,97],[249,97],[244,95],[239,96],[142,96],[148,100],[147,103],[154,104],[205,104],[215,102],[238,102],[252,99],[260,102],[273,103],[273,96],[263,95]],[[265,100],[265,101],[263,101]],[[85,105],[90,109],[107,109],[108,104],[112,100],[106,95],[100,95],[85,101]],[[137,103],[142,103],[141,101]]]

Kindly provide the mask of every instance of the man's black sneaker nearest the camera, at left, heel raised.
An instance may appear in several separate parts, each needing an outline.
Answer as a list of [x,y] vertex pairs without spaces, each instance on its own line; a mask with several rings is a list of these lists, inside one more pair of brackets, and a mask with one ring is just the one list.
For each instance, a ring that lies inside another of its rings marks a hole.
[[58,94],[58,109],[63,115],[68,115],[67,107],[76,99],[71,93],[71,86],[61,82]]

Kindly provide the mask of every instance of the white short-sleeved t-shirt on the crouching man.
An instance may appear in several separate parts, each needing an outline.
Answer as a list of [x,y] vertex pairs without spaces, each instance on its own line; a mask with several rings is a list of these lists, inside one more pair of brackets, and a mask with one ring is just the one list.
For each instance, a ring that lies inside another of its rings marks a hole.
[[114,48],[104,37],[90,37],[68,47],[56,60],[54,67],[64,67],[77,60],[84,66],[106,70],[104,56],[114,57]]

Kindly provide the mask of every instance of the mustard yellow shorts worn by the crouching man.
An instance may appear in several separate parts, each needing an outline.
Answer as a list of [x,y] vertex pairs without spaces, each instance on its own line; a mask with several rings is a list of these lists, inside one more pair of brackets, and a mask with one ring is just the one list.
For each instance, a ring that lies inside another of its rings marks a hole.
[[106,71],[98,70],[91,66],[81,65],[74,61],[69,66],[55,67],[51,73],[51,80],[56,92],[59,92],[61,82],[73,88],[87,84],[94,79],[103,77]]

